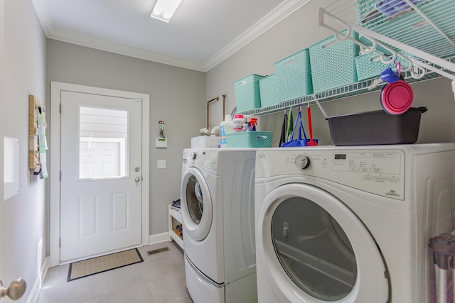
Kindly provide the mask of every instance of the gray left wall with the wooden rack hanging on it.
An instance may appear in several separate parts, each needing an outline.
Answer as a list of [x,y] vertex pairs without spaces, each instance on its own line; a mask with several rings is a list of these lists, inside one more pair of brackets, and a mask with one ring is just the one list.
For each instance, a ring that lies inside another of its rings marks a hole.
[[[19,193],[2,201],[0,207],[0,233],[4,229],[0,242],[0,262],[4,267],[2,270],[0,266],[0,280],[9,285],[16,277],[23,277],[28,289],[18,302],[26,302],[38,280],[47,241],[45,180],[28,170],[28,94],[45,101],[45,35],[31,1],[2,0],[0,5],[2,14],[4,7],[4,16],[0,16],[0,62],[4,76],[0,89],[1,137],[19,140]],[[0,150],[3,159],[3,147]],[[1,192],[3,198],[3,189]]]

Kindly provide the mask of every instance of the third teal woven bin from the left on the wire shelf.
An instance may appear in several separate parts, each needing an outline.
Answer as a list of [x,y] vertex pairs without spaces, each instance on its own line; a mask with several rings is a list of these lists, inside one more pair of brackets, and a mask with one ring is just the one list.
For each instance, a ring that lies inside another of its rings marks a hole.
[[274,64],[274,69],[280,102],[313,94],[310,54],[307,48],[279,60]]

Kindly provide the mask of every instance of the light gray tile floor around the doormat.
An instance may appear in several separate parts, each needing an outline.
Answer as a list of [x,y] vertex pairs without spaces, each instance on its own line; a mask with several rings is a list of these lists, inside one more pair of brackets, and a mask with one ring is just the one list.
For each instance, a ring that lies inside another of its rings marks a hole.
[[[147,251],[168,246],[154,255]],[[69,264],[49,268],[37,303],[193,303],[174,242],[138,248],[144,262],[66,282]]]

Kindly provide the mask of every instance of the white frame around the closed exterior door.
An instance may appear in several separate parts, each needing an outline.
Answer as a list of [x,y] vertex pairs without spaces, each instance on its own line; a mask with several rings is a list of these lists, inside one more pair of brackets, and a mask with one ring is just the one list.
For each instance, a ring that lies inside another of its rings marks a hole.
[[50,82],[50,194],[49,194],[49,265],[60,265],[60,103],[61,92],[102,94],[142,100],[142,243],[149,244],[149,111],[150,95],[116,89]]

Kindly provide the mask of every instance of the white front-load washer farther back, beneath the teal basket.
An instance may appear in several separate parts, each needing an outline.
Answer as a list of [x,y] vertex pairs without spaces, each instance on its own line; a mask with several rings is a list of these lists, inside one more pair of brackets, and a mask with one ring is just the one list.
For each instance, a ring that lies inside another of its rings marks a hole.
[[183,250],[195,303],[257,301],[255,156],[255,148],[183,151]]

